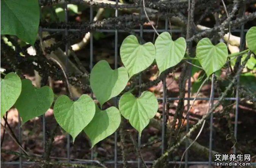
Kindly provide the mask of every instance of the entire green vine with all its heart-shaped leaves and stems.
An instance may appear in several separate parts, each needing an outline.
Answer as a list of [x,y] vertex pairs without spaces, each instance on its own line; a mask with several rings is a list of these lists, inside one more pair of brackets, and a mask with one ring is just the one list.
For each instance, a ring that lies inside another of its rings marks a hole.
[[[20,14],[20,9],[27,11],[25,15]],[[38,33],[39,13],[38,1],[33,1],[33,3],[26,1],[21,3],[18,0],[2,0],[1,17],[4,14],[10,14],[10,18],[13,18],[13,20],[2,17],[1,34],[15,35],[24,42],[34,45]],[[209,31],[216,30],[211,29]],[[199,35],[193,36],[189,40],[192,41],[196,37],[199,37]],[[1,72],[4,76],[4,78],[1,78],[1,118],[14,106],[21,116],[22,124],[24,124],[35,117],[45,114],[54,103],[54,117],[57,123],[68,134],[72,135],[73,142],[75,142],[77,135],[80,134],[81,131],[84,131],[90,138],[92,146],[94,146],[119,128],[121,115],[129,120],[129,123],[141,136],[143,130],[148,126],[150,119],[154,118],[157,113],[158,101],[154,93],[149,91],[142,92],[138,97],[131,93],[136,87],[140,86],[133,86],[127,91],[127,83],[133,79],[132,77],[142,73],[154,63],[156,63],[158,67],[158,77],[160,77],[165,74],[163,72],[166,72],[169,68],[175,67],[183,60],[197,60],[207,77],[209,77],[223,68],[229,58],[233,59],[249,53],[245,61],[243,61],[243,68],[251,54],[256,54],[256,26],[251,27],[246,34],[248,49],[232,54],[228,54],[227,45],[223,42],[213,45],[209,38],[202,38],[197,43],[195,57],[191,57],[186,53],[187,43],[191,41],[186,41],[183,37],[173,40],[169,32],[159,34],[154,44],[152,42],[140,44],[140,41],[141,40],[134,35],[127,36],[123,40],[120,48],[120,57],[124,64],[123,67],[113,70],[107,61],[102,60],[94,65],[90,74],[87,74],[90,79],[92,92],[99,102],[100,107],[97,102],[86,94],[81,95],[80,98],[75,101],[71,100],[70,97],[66,95],[61,95],[58,96],[57,100],[54,102],[55,95],[50,87],[43,86],[37,88],[32,85],[30,80],[21,79],[14,72],[8,74]],[[22,53],[22,51],[20,52]],[[184,67],[184,70],[187,70],[186,67]],[[239,69],[237,72],[240,73],[242,70]],[[186,72],[183,73],[183,76],[185,75]],[[65,72],[64,76],[67,78]],[[234,79],[232,79],[231,84],[229,84],[219,101],[223,101],[228,90],[234,85]],[[159,79],[156,79],[156,81],[158,82]],[[185,82],[186,80],[184,78],[181,87],[185,85]],[[153,84],[155,83],[153,82]],[[121,96],[118,108],[102,108],[103,104],[116,96]],[[215,104],[203,119],[209,117],[218,105],[219,103]],[[183,102],[181,102],[179,107],[181,106],[183,106]],[[183,112],[183,110],[180,110],[180,112]],[[176,118],[181,117],[177,115],[181,114],[175,114],[175,122],[173,121],[172,127],[175,127]],[[181,122],[179,124],[181,124]],[[153,167],[157,166],[162,160],[165,160],[169,153],[179,146],[186,137],[189,137],[200,124],[202,124],[201,120],[189,131],[189,134],[184,136],[176,145],[170,145],[169,142],[170,148],[157,160]],[[123,128],[121,128],[120,132],[121,134],[124,133]],[[172,140],[173,137],[174,135],[170,137],[170,140]],[[122,143],[124,143],[124,135],[122,135],[121,138]],[[124,146],[124,144],[122,145]],[[124,150],[123,146],[122,149]],[[46,164],[46,162],[42,160],[36,160],[36,162]],[[48,164],[51,163],[49,162]]]

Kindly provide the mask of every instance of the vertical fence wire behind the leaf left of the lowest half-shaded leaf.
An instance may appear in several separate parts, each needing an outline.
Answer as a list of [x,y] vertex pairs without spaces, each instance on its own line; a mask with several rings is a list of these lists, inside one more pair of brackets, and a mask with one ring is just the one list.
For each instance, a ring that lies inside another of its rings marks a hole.
[[[65,10],[65,23],[68,23],[68,4],[65,2],[64,6]],[[68,38],[68,30],[67,27],[65,28],[65,37]],[[69,40],[67,41],[67,44],[65,45],[65,67],[66,67],[66,73],[68,72],[68,45],[69,45]],[[68,158],[68,163],[70,163],[70,135],[67,135],[67,158]]]

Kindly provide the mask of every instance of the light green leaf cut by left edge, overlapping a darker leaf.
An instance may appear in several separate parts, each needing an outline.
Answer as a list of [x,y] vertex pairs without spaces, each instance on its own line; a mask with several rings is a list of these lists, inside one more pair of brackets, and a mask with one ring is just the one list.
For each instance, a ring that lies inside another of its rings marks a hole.
[[9,110],[21,94],[21,79],[16,73],[8,73],[1,78],[1,118]]

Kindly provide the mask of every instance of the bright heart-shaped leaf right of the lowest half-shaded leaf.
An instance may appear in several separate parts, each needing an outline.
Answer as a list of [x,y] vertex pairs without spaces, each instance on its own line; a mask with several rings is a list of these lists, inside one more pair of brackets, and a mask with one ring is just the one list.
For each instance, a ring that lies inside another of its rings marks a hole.
[[153,93],[145,91],[139,98],[135,98],[130,92],[124,93],[119,100],[121,114],[129,120],[130,124],[142,134],[142,130],[148,125],[158,109],[158,102]]

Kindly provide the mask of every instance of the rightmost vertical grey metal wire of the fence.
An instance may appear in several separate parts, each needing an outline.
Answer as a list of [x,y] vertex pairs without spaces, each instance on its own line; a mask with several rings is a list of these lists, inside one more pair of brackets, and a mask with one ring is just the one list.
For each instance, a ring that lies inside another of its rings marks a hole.
[[[245,5],[243,5],[243,8],[241,8],[240,12],[242,12],[242,16],[245,15]],[[245,29],[245,25],[243,24],[241,26],[241,30],[240,30],[240,47],[239,50],[243,51],[245,48],[245,39],[244,39],[244,29]],[[239,56],[237,58],[237,60],[239,61],[239,65],[241,64],[241,56]],[[239,82],[240,82],[240,75],[237,77],[237,87],[236,87],[236,100],[235,100],[235,127],[234,127],[234,137],[235,139],[237,139],[237,121],[238,121],[238,108],[239,108]],[[234,146],[234,154],[236,154],[236,148]],[[234,166],[233,166],[234,167]]]

